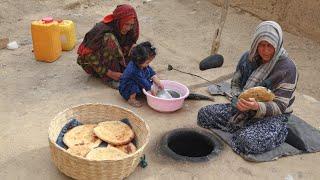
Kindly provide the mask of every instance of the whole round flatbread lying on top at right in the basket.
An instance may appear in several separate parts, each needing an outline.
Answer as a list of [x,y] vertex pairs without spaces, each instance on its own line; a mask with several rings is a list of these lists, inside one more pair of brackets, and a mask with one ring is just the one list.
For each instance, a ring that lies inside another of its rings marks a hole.
[[132,129],[121,121],[101,122],[93,131],[100,139],[115,146],[128,144],[134,138]]

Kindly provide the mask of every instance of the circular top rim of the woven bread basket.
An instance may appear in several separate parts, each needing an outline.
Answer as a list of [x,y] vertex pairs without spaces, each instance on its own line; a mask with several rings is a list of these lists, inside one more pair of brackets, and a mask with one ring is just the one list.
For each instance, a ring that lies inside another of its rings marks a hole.
[[[67,112],[67,111],[70,110],[70,109],[77,108],[77,107],[80,107],[80,106],[87,106],[87,105],[113,106],[113,107],[116,107],[116,108],[120,108],[120,109],[129,111],[130,113],[133,113],[133,114],[134,114],[135,116],[137,116],[137,117],[145,124],[145,126],[146,126],[146,129],[147,129],[146,143],[144,143],[136,152],[131,153],[131,154],[128,154],[128,155],[125,156],[124,158],[117,159],[117,160],[90,160],[90,159],[86,159],[85,157],[76,156],[76,155],[73,155],[73,154],[68,153],[66,149],[58,146],[58,145],[57,145],[54,141],[52,141],[52,139],[50,138],[51,122],[52,122],[54,119],[56,119],[58,116],[60,116],[61,114]],[[83,103],[83,104],[78,104],[78,105],[74,105],[74,106],[71,106],[71,107],[69,107],[69,108],[66,108],[65,110],[63,110],[63,111],[59,112],[58,114],[56,114],[53,119],[51,119],[50,124],[49,124],[49,129],[48,129],[48,139],[49,139],[49,142],[50,142],[51,144],[53,144],[55,148],[63,151],[64,153],[67,153],[67,155],[72,156],[72,157],[74,157],[74,158],[78,158],[78,159],[85,160],[85,161],[89,161],[89,162],[115,162],[115,161],[123,161],[123,160],[125,160],[125,159],[134,157],[134,156],[136,156],[137,154],[139,154],[140,152],[142,152],[142,151],[144,150],[144,148],[147,146],[147,144],[148,144],[148,142],[149,142],[149,140],[150,140],[150,128],[149,128],[148,124],[146,123],[146,121],[145,121],[144,119],[142,119],[139,115],[137,115],[136,113],[134,113],[133,111],[131,111],[131,110],[128,109],[128,108],[121,107],[121,106],[119,106],[119,105],[114,105],[114,104],[105,104],[105,103]]]

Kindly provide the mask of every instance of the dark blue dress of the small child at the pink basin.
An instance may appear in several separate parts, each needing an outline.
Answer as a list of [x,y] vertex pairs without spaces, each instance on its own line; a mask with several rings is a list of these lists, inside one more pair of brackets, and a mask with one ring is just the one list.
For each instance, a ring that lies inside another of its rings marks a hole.
[[149,91],[152,86],[151,77],[155,74],[150,66],[140,69],[130,61],[120,78],[119,92],[121,96],[128,100],[131,94],[142,94],[142,88]]

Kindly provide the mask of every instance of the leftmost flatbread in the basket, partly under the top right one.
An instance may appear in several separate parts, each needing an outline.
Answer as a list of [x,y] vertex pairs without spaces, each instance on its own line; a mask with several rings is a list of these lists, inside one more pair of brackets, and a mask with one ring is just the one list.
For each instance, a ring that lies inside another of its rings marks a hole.
[[64,135],[63,142],[69,148],[79,145],[87,145],[90,148],[98,147],[102,141],[93,132],[96,126],[96,124],[85,124],[74,127]]

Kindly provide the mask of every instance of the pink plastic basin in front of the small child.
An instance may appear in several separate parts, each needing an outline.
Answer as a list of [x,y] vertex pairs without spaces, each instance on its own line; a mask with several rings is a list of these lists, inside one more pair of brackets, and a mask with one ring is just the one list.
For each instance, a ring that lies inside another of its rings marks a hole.
[[183,106],[184,99],[189,95],[189,89],[187,86],[169,80],[161,80],[165,89],[171,89],[178,92],[181,96],[179,98],[163,99],[151,95],[143,89],[143,93],[147,96],[148,105],[159,112],[173,112],[180,109]]

